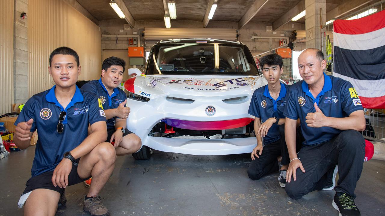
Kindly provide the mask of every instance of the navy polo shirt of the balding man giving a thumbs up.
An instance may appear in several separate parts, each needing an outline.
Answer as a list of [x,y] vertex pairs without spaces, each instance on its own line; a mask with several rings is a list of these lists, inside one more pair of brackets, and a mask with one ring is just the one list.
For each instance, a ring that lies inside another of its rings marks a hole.
[[305,81],[300,81],[291,86],[288,93],[288,104],[284,115],[291,119],[301,120],[301,130],[305,141],[303,145],[314,145],[333,139],[341,133],[331,127],[312,128],[306,124],[308,113],[314,113],[314,103],[325,116],[344,118],[357,110],[363,110],[361,100],[353,85],[341,78],[327,76],[323,73],[325,83],[321,92],[313,97],[309,91],[309,85]]

